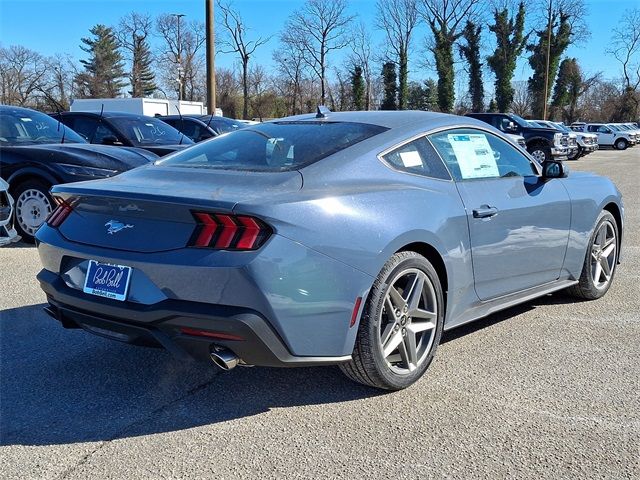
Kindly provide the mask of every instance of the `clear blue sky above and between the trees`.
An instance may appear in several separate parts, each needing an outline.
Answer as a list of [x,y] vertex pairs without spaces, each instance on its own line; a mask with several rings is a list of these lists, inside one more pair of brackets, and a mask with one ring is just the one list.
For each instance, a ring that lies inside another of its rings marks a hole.
[[[0,44],[24,45],[45,55],[68,53],[76,58],[86,55],[79,48],[80,38],[88,35],[88,30],[96,23],[117,24],[120,17],[137,11],[157,15],[160,13],[183,13],[185,19],[204,21],[204,0],[0,0]],[[287,16],[299,8],[303,0],[235,0],[245,23],[255,36],[277,34]],[[619,76],[619,66],[608,58],[605,49],[613,27],[619,22],[622,12],[640,4],[638,0],[586,0],[587,23],[591,37],[581,45],[572,46],[568,56],[577,57],[585,73],[603,72],[605,77]],[[535,2],[533,2],[535,5]],[[379,46],[382,34],[373,29],[375,21],[374,0],[350,0],[351,13],[369,25],[373,31],[373,43]],[[420,50],[426,36],[422,27],[414,42],[415,53],[410,65],[410,78],[421,80],[434,73],[420,68]],[[490,32],[485,29],[485,42],[491,44]],[[253,61],[269,67],[271,52],[277,47],[274,37],[270,43],[256,52]],[[339,66],[343,55],[330,59]],[[217,65],[232,67],[235,57],[230,54],[218,55]],[[526,60],[522,60],[516,72],[517,79],[529,76]],[[489,80],[489,79],[487,79]]]

